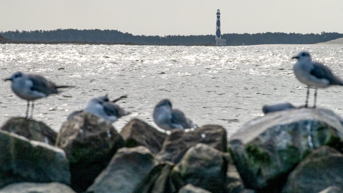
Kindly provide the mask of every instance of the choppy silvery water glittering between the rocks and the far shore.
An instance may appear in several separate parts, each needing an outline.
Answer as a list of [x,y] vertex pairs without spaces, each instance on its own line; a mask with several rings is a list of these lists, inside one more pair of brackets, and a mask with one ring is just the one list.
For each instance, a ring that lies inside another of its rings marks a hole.
[[[304,105],[306,87],[293,74],[300,50],[343,78],[340,45],[124,46],[0,44],[0,79],[15,71],[42,75],[61,85],[58,95],[35,101],[34,119],[57,132],[67,116],[88,99],[128,95],[118,104],[131,114],[113,125],[121,130],[132,118],[157,127],[155,104],[164,98],[198,126],[222,125],[228,136],[249,120],[262,116],[262,106],[288,101]],[[343,116],[343,87],[318,91],[317,105]],[[314,90],[311,90],[310,105]],[[10,82],[0,88],[0,124],[25,116],[26,101]]]

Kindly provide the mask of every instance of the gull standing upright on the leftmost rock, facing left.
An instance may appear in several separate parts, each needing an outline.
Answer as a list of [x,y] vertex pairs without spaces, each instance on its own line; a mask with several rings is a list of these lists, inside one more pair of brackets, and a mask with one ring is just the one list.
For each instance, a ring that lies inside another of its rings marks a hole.
[[56,86],[54,82],[45,79],[42,76],[15,72],[10,78],[5,79],[5,81],[10,80],[12,82],[12,91],[22,99],[27,100],[26,117],[28,115],[29,102],[32,101],[31,107],[31,118],[33,114],[33,101],[49,96],[50,94],[57,94],[58,88],[66,88],[73,86]]

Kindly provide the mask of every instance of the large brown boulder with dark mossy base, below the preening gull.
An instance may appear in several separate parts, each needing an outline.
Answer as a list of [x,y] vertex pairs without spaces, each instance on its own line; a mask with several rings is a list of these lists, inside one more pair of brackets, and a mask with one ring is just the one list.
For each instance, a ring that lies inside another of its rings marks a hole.
[[69,159],[70,186],[76,192],[83,192],[124,146],[124,140],[109,122],[83,112],[63,123],[56,146]]

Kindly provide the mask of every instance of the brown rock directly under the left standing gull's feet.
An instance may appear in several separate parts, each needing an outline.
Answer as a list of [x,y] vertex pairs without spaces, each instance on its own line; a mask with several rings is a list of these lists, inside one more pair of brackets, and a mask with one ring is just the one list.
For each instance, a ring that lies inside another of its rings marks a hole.
[[15,133],[30,140],[42,141],[49,145],[55,145],[57,133],[40,121],[23,117],[10,118],[1,130]]

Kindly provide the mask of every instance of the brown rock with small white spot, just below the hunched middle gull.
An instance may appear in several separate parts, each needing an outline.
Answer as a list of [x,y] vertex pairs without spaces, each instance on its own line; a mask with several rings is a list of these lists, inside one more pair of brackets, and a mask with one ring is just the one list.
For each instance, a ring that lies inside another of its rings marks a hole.
[[226,152],[226,130],[218,125],[204,125],[190,132],[174,129],[165,139],[156,158],[178,163],[189,148],[199,143]]

